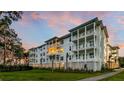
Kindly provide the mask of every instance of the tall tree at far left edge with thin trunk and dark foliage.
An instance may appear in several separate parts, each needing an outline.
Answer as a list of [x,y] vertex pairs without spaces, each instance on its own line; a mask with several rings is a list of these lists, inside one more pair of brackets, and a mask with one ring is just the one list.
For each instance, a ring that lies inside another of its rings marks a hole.
[[10,25],[13,21],[21,19],[22,14],[21,11],[0,11],[0,31],[4,36],[4,64],[6,63],[6,46],[8,43],[6,37],[10,35]]

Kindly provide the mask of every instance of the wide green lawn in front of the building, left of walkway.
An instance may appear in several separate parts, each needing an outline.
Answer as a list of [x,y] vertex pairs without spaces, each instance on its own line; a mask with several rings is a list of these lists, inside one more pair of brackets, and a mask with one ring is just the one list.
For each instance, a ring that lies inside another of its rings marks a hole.
[[50,70],[33,69],[29,71],[0,72],[0,79],[5,81],[66,81],[80,80],[83,78],[101,75],[101,72],[94,73],[69,73],[69,72],[51,72]]

